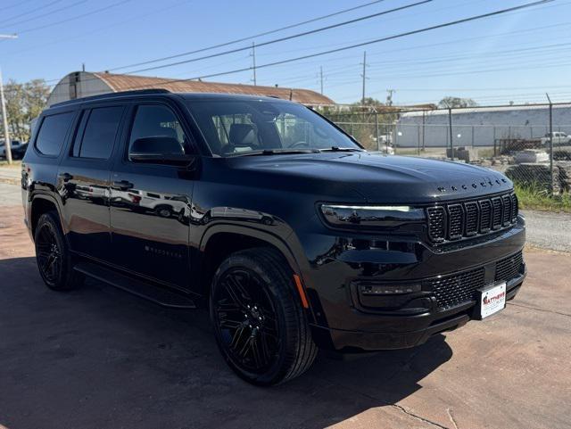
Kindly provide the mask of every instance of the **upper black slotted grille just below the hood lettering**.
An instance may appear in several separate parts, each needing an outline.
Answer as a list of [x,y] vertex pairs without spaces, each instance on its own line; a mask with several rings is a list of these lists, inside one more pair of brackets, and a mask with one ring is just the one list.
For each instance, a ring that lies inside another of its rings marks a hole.
[[426,219],[432,243],[488,234],[517,222],[517,196],[503,194],[479,201],[444,203],[427,208]]

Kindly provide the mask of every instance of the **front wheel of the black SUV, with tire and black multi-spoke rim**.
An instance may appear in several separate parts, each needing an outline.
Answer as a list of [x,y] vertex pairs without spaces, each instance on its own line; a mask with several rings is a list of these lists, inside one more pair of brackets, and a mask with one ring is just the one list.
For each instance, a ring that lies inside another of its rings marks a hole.
[[211,285],[211,320],[228,366],[249,383],[302,375],[317,355],[291,269],[278,252],[231,254]]

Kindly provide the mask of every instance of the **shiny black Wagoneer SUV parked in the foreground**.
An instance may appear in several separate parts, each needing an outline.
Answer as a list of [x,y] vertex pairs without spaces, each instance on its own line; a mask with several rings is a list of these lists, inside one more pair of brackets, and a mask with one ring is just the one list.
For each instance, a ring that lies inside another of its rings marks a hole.
[[503,309],[525,221],[491,169],[366,152],[300,104],[147,90],[44,111],[22,162],[39,272],[210,310],[254,384],[318,348],[413,347]]

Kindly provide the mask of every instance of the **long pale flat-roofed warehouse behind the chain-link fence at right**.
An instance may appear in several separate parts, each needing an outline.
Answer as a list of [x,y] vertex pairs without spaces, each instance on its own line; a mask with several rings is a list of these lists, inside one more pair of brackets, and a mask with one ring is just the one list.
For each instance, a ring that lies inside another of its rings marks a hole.
[[[454,146],[489,146],[503,138],[538,138],[549,132],[549,106],[505,106],[452,110]],[[394,141],[401,147],[450,144],[448,111],[401,114]],[[571,134],[571,104],[553,106],[553,131]]]

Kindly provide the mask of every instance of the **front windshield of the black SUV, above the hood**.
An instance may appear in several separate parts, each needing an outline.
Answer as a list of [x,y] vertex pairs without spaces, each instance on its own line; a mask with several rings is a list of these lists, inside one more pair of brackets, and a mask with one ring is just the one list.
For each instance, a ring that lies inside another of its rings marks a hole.
[[212,153],[360,150],[349,136],[300,104],[261,100],[188,102]]

